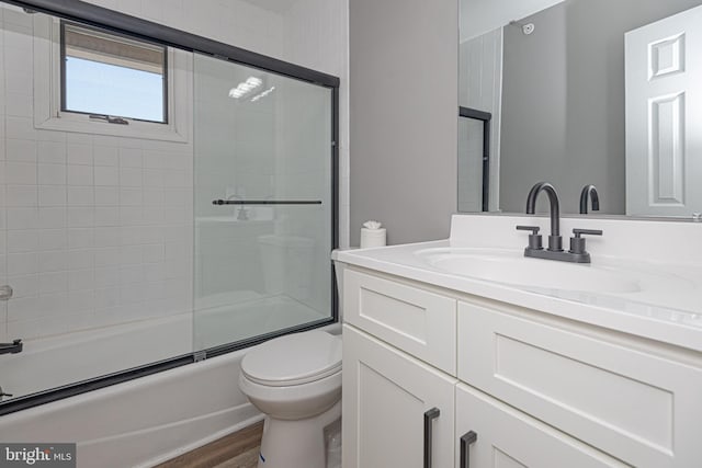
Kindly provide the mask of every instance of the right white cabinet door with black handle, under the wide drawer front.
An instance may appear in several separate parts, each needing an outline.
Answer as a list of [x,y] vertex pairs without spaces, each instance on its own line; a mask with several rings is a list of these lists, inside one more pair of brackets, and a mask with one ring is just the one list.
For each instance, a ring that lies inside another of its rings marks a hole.
[[[475,442],[469,445],[461,444],[461,437],[471,431],[476,436]],[[467,446],[462,448],[461,445]],[[456,386],[455,466],[601,468],[629,465],[461,384]]]

